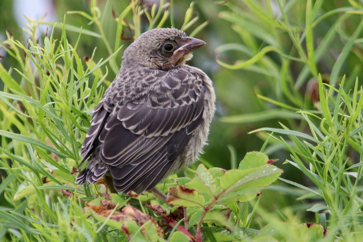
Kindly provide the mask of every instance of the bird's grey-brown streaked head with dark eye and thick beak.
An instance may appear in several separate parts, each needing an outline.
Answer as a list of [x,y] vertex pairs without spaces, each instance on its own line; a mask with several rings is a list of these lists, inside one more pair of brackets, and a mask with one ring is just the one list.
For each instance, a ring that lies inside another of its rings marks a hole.
[[192,51],[205,42],[188,37],[175,28],[152,29],[137,38],[123,54],[122,65],[142,65],[160,70],[170,70],[184,65]]

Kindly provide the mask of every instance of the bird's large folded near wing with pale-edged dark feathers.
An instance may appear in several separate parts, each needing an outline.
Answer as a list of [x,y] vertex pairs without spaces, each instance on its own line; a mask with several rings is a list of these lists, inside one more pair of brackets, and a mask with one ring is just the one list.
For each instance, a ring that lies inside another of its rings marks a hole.
[[201,79],[183,74],[163,79],[143,102],[115,107],[107,120],[99,135],[100,157],[110,165],[117,190],[139,193],[154,187],[202,122]]

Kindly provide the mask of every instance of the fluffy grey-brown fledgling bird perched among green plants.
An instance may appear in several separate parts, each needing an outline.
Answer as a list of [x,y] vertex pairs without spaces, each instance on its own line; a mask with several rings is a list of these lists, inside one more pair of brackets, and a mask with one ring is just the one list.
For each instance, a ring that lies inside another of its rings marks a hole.
[[204,44],[182,30],[158,28],[125,49],[118,74],[93,110],[78,186],[105,177],[111,191],[140,194],[198,159],[216,95],[207,74],[185,62]]

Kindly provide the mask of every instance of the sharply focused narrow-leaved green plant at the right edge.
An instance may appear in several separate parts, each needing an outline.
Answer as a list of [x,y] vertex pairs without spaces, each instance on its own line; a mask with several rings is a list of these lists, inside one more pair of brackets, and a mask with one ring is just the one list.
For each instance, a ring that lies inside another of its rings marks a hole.
[[[291,152],[291,160],[287,163],[294,165],[315,184],[318,190],[312,190],[285,182],[306,190],[302,199],[321,198],[325,204],[315,204],[308,209],[315,212],[318,221],[339,236],[348,237],[352,241],[362,239],[362,233],[351,234],[351,231],[362,231],[360,220],[362,192],[362,164],[350,157],[354,152],[359,161],[363,156],[362,140],[362,87],[358,89],[358,79],[355,88],[348,93],[344,91],[344,81],[339,89],[328,86],[324,88],[319,76],[319,97],[322,116],[309,111],[301,111],[301,115],[310,127],[310,135],[291,131],[282,125],[282,129],[261,128],[253,132],[273,131],[272,138],[284,144]],[[316,126],[315,119],[319,120]],[[319,128],[318,128],[319,127]],[[275,136],[282,134],[282,136]],[[285,135],[294,145],[286,142]],[[306,167],[306,164],[308,167]],[[323,213],[319,213],[323,211]]]

